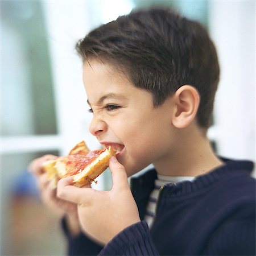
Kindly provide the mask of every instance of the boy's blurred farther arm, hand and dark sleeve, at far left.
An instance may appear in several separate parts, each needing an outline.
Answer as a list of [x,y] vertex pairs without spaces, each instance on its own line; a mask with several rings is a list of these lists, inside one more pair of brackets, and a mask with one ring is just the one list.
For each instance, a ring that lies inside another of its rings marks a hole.
[[56,187],[42,168],[46,160],[52,159],[56,159],[56,156],[45,155],[35,159],[29,166],[30,172],[36,177],[40,197],[44,205],[61,218],[61,226],[68,242],[68,255],[97,255],[102,247],[82,234],[77,204],[56,196]]

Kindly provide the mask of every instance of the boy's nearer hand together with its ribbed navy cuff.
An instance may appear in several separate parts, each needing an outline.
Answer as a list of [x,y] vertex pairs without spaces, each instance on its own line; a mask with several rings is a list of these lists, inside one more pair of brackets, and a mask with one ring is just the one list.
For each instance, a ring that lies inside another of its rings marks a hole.
[[158,255],[146,222],[139,219],[124,167],[112,158],[111,191],[72,186],[72,177],[58,183],[57,195],[77,203],[82,230],[105,245],[100,255]]

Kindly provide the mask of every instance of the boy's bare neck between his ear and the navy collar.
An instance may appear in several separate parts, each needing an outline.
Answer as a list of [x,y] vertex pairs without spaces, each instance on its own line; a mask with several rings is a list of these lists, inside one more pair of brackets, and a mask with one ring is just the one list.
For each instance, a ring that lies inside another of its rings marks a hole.
[[[177,131],[175,150],[154,163],[156,171],[166,176],[199,176],[224,163],[214,154],[207,136],[199,129]],[[182,140],[180,139],[182,138]]]

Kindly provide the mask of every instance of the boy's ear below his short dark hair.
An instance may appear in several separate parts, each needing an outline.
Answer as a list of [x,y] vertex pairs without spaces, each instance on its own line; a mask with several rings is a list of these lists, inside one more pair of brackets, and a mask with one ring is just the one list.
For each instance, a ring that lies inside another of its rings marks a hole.
[[200,94],[195,87],[183,85],[174,94],[175,110],[172,124],[177,128],[187,127],[196,117]]

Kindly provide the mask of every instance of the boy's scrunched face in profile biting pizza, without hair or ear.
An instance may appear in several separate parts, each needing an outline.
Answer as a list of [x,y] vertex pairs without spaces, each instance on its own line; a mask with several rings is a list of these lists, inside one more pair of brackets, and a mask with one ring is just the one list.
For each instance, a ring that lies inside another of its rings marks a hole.
[[83,80],[93,111],[90,133],[101,144],[118,148],[117,159],[127,175],[151,163],[162,163],[172,142],[171,100],[154,108],[152,96],[136,88],[109,64],[85,62]]

